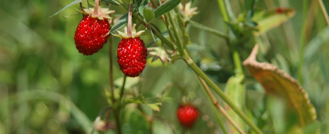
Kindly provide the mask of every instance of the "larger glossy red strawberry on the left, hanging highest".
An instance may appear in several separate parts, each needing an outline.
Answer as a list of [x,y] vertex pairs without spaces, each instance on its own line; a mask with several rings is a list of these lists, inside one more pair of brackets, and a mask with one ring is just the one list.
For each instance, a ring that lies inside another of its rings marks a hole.
[[[110,34],[110,23],[107,19],[99,20],[86,15],[80,21],[75,31],[75,46],[79,53],[91,55],[103,48]],[[104,37],[105,36],[105,37]]]

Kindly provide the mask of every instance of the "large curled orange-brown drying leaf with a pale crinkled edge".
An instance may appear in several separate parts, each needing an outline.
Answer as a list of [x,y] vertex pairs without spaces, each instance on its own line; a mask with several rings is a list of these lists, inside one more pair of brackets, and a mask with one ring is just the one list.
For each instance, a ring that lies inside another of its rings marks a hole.
[[[286,103],[286,113],[295,112],[299,127],[316,122],[316,109],[311,104],[308,94],[298,82],[283,70],[269,63],[256,61],[258,45],[242,63],[248,67],[254,78],[262,84],[268,95],[278,96]],[[289,122],[286,120],[286,122]]]

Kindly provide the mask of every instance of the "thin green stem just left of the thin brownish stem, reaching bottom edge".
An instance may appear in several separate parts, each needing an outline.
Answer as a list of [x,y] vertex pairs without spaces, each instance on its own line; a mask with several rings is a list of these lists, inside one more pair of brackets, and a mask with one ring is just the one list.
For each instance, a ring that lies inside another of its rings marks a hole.
[[[216,115],[216,119],[217,119],[217,122],[219,123],[219,126],[222,128],[222,131],[224,132],[224,134],[228,134],[228,133],[227,133],[227,130],[226,130],[224,124],[223,124],[223,121],[222,121],[222,119],[220,118],[220,116],[219,116],[219,114],[218,114],[218,112],[217,112],[217,110],[216,110],[216,107],[215,107],[216,102],[214,102],[214,101],[211,99],[210,94],[207,92],[206,87],[205,87],[204,84],[202,83],[202,82],[204,82],[204,80],[202,80],[202,78],[201,78],[200,76],[198,76],[198,75],[197,75],[197,77],[198,77],[198,79],[199,79],[199,84],[202,85],[202,86],[201,86],[201,88],[203,89],[202,91],[203,91],[203,93],[206,95],[207,100],[208,100],[208,102],[210,103],[211,108],[213,109],[213,111],[214,111],[214,113],[215,113],[215,115]],[[217,103],[218,103],[218,102],[217,102]]]

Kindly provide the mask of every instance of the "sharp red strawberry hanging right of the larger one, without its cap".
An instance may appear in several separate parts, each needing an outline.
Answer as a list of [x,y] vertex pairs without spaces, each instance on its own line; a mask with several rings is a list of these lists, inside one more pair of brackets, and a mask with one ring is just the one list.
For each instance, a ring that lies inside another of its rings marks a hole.
[[122,38],[118,46],[117,62],[122,72],[129,77],[139,76],[146,64],[147,49],[139,37]]

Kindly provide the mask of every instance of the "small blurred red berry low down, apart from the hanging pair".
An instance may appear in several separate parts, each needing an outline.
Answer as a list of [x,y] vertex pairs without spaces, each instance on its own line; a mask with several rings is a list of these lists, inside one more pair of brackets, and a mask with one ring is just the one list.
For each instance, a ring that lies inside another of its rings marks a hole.
[[177,109],[177,118],[180,124],[191,128],[199,117],[199,111],[191,105],[180,105]]

